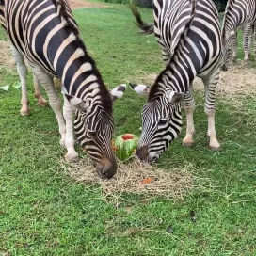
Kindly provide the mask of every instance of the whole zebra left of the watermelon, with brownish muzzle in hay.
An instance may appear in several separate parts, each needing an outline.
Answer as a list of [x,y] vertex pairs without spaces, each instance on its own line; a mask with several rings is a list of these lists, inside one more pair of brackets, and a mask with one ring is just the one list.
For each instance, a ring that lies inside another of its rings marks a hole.
[[[78,159],[74,130],[98,173],[111,178],[117,171],[111,147],[112,102],[122,95],[125,87],[109,93],[95,62],[88,56],[66,0],[1,0],[0,5],[1,20],[12,44],[22,85],[26,79],[25,57],[56,114],[60,144],[68,151],[65,159]],[[53,77],[61,79],[63,114]]]

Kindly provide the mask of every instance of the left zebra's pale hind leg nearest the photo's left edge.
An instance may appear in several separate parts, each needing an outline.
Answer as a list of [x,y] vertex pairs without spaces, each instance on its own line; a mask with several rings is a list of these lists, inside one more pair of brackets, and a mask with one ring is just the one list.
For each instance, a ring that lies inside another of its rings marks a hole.
[[24,56],[21,55],[18,50],[11,45],[11,52],[12,56],[15,58],[15,63],[17,66],[17,72],[19,74],[21,84],[22,84],[22,108],[20,110],[22,116],[27,116],[30,114],[30,109],[28,107],[29,101],[27,99],[27,91],[26,91],[26,75],[27,75],[27,68],[24,64]]

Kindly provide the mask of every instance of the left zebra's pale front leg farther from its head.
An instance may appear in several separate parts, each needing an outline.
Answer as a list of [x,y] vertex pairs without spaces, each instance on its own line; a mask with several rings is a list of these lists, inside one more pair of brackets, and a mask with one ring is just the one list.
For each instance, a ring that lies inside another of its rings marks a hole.
[[39,66],[34,66],[33,71],[40,81],[40,84],[45,88],[45,91],[49,98],[49,103],[56,114],[56,120],[58,123],[59,133],[61,136],[60,145],[65,146],[66,139],[66,125],[62,115],[61,100],[57,95],[57,91],[54,85],[53,77],[44,72]]

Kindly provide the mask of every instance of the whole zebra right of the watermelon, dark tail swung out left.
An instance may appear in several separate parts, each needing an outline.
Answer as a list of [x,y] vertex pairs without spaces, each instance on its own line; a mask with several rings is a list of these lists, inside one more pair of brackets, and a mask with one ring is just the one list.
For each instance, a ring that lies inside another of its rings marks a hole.
[[215,91],[222,64],[220,26],[215,4],[211,0],[154,0],[154,27],[141,20],[132,7],[137,25],[154,31],[162,48],[166,68],[152,88],[132,85],[139,94],[148,95],[142,109],[142,134],[137,156],[155,161],[182,129],[181,103],[184,102],[187,128],[184,146],[192,146],[194,134],[193,80],[199,76],[205,88],[204,110],[208,116],[210,147],[220,147],[215,129]]

